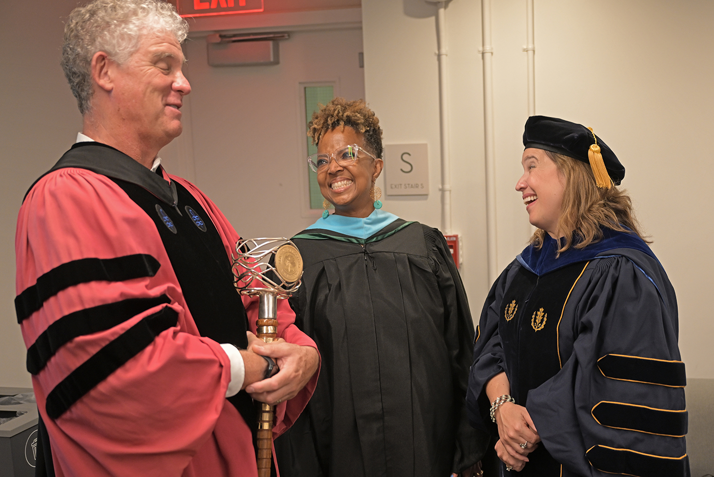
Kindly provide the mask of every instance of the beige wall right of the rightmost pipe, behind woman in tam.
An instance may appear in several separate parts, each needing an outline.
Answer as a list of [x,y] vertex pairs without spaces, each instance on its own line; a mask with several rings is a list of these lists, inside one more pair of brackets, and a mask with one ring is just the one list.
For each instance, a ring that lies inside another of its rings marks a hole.
[[[714,378],[714,3],[536,5],[537,111],[580,118],[617,151],[627,167],[623,186],[677,291],[687,374]],[[592,26],[568,21],[575,18]]]

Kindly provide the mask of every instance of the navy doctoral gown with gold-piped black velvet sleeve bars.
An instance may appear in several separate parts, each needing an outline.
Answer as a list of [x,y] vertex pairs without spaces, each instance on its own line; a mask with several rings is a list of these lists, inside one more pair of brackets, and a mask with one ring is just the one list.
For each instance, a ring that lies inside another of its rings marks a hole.
[[506,371],[541,439],[517,475],[689,476],[674,289],[643,241],[603,232],[558,258],[546,237],[493,284],[477,328],[469,419],[498,438],[484,389]]

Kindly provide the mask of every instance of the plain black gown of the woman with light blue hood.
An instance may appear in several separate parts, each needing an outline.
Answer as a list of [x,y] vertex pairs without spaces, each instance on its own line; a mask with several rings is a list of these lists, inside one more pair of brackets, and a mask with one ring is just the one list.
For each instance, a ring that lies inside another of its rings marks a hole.
[[305,273],[291,305],[322,365],[276,440],[281,475],[446,477],[476,463],[488,437],[466,420],[473,321],[441,233],[398,219],[366,240],[293,240]]

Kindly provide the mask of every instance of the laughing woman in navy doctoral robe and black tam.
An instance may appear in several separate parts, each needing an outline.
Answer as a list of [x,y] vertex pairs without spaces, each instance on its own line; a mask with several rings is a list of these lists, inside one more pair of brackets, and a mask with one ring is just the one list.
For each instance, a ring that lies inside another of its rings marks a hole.
[[[501,475],[689,476],[677,301],[591,129],[533,116],[521,192],[538,230],[476,331],[467,405]],[[486,470],[488,473],[488,470]]]

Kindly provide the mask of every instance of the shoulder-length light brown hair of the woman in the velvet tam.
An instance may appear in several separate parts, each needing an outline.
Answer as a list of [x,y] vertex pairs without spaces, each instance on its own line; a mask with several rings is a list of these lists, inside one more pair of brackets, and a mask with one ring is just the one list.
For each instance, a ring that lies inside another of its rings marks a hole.
[[[589,164],[545,151],[553,160],[555,166],[565,176],[563,204],[560,206],[558,231],[565,234],[560,241],[558,255],[573,246],[585,248],[603,239],[601,227],[607,227],[628,234],[635,234],[646,243],[648,240],[641,230],[635,217],[632,200],[627,192],[615,186],[610,189],[600,189],[595,185],[595,176]],[[538,229],[531,237],[531,245],[535,248],[543,246],[546,232]],[[573,239],[575,245],[573,245]]]

